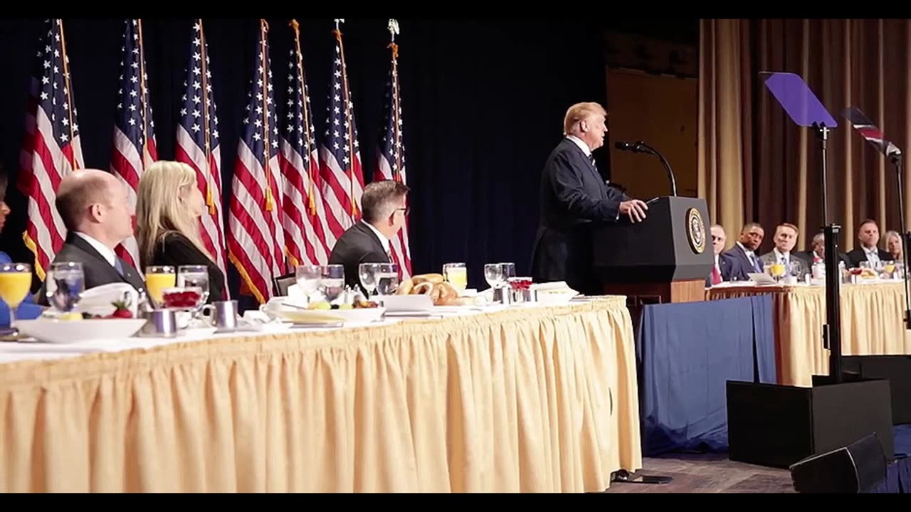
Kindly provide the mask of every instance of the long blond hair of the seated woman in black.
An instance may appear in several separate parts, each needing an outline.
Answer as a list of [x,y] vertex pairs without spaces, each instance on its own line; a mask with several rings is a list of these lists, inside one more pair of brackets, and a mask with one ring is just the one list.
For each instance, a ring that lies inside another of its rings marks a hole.
[[159,160],[142,173],[136,200],[136,241],[142,261],[151,263],[155,244],[174,232],[212,259],[200,239],[199,220],[178,199],[181,190],[196,186],[196,171],[181,162]]

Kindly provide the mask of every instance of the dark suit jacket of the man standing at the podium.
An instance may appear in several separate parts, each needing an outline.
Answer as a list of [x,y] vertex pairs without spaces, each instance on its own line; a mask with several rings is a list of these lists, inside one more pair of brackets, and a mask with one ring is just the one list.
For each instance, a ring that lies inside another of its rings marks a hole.
[[609,187],[582,148],[564,138],[550,153],[540,185],[540,219],[531,255],[535,282],[565,281],[573,290],[599,294],[592,261],[592,230],[619,219],[629,200]]

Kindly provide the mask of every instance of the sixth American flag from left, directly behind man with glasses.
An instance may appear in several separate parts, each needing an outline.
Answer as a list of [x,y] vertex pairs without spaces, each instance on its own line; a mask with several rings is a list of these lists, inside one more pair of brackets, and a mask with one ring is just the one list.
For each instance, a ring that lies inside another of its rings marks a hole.
[[344,64],[342,32],[336,28],[333,74],[329,86],[326,137],[320,148],[322,193],[326,202],[326,220],[333,233],[330,247],[342,233],[361,218],[363,170],[361,151],[354,123],[354,104],[348,87],[348,72]]

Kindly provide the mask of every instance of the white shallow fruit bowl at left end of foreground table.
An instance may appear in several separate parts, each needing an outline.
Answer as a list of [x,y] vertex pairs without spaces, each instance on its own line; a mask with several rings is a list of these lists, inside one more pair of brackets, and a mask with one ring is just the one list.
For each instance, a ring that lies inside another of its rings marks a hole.
[[19,333],[31,336],[39,342],[79,343],[86,341],[122,340],[128,338],[146,324],[144,319],[105,318],[97,320],[57,320],[36,318],[18,320],[15,327]]

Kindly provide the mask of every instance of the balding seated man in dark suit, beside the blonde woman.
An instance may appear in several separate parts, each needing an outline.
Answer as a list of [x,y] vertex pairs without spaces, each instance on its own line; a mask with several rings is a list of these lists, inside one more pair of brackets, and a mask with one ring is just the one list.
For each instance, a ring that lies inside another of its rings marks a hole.
[[[67,241],[54,262],[82,263],[85,289],[111,282],[128,282],[138,292],[145,289],[142,275],[114,252],[133,234],[133,210],[127,186],[113,174],[80,169],[60,180],[56,209],[67,228]],[[37,301],[47,305],[45,285]]]

